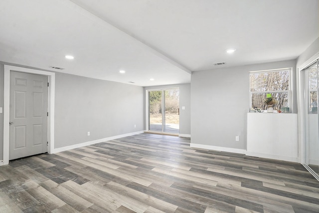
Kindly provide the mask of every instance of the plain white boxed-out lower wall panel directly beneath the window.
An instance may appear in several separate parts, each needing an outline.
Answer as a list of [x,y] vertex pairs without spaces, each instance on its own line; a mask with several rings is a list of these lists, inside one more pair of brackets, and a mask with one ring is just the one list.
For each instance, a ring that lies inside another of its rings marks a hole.
[[247,113],[246,155],[300,162],[295,113]]

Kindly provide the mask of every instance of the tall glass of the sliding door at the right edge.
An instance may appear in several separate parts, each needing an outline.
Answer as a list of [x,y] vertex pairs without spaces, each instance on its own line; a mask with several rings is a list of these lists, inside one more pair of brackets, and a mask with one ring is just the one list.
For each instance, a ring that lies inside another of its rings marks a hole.
[[318,61],[305,69],[306,165],[319,175]]

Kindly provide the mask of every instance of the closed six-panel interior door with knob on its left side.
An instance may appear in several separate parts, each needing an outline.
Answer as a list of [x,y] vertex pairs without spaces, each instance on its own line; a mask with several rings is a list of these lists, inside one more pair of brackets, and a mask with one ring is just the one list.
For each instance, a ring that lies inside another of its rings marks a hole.
[[9,160],[47,152],[47,82],[10,71]]

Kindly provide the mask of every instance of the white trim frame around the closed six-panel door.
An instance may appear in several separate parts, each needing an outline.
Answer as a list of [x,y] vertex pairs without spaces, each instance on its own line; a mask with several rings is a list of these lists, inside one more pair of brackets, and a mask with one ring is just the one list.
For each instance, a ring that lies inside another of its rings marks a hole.
[[10,71],[26,72],[48,76],[48,153],[54,150],[54,96],[55,73],[18,66],[4,65],[4,100],[3,100],[3,165],[9,164],[9,105],[10,105]]

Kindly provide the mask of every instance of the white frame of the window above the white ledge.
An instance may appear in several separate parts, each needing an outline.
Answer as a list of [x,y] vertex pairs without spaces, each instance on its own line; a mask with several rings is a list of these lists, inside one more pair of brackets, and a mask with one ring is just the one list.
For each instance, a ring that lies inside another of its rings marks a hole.
[[[288,77],[288,90],[272,90],[272,91],[256,91],[256,92],[251,92],[251,85],[250,85],[250,74],[252,73],[269,73],[269,72],[280,72],[283,70],[289,70],[289,77]],[[253,106],[251,106],[252,102],[252,95],[253,94],[261,94],[261,93],[288,93],[288,107],[290,108],[290,112],[293,112],[292,109],[292,85],[291,82],[293,82],[293,75],[292,75],[292,67],[287,67],[287,68],[280,68],[280,69],[269,69],[269,70],[260,70],[260,71],[250,71],[248,72],[249,75],[249,109],[251,109]]]

